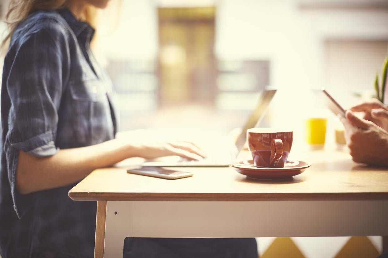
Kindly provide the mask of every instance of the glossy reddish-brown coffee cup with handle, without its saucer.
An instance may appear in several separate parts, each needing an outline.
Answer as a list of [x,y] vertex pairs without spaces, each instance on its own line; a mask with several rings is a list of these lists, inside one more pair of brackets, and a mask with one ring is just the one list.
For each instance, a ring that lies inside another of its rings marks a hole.
[[248,149],[256,167],[282,168],[287,162],[293,131],[276,128],[247,130]]

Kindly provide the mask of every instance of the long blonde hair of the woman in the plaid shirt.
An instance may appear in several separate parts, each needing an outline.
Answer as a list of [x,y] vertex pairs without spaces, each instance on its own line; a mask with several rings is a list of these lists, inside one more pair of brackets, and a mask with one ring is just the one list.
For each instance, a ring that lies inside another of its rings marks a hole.
[[[7,24],[7,34],[3,39],[0,50],[7,48],[12,33],[17,25],[26,19],[26,17],[35,10],[55,10],[66,7],[67,0],[10,0],[8,12],[5,15],[5,23]],[[96,23],[96,8],[89,5],[81,19],[88,22],[91,26]]]

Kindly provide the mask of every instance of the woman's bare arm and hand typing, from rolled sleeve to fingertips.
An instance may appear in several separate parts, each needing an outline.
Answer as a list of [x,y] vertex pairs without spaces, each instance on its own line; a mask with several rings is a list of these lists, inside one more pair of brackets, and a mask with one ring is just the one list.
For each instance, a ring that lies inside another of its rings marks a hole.
[[94,169],[112,166],[130,157],[152,159],[178,155],[191,160],[204,157],[202,151],[191,142],[167,140],[162,134],[148,130],[123,132],[118,136],[100,144],[61,149],[49,157],[35,157],[20,151],[16,171],[17,190],[26,194],[70,185]]

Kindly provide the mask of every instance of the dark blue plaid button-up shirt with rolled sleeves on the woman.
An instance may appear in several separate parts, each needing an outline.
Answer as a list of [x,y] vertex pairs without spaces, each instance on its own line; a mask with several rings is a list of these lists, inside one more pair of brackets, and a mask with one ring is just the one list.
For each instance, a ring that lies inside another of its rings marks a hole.
[[12,35],[1,90],[3,257],[93,257],[95,202],[72,201],[72,185],[28,195],[15,187],[19,150],[48,157],[114,138],[111,82],[90,51],[93,34],[61,9],[34,12]]

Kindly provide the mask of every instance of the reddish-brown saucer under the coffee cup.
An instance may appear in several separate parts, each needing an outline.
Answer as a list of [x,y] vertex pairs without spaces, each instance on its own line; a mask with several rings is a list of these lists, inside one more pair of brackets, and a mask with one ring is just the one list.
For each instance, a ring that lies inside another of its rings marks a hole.
[[287,161],[283,168],[256,167],[253,161],[236,161],[229,166],[234,167],[240,174],[254,179],[282,179],[296,176],[308,167],[310,163],[304,161]]

